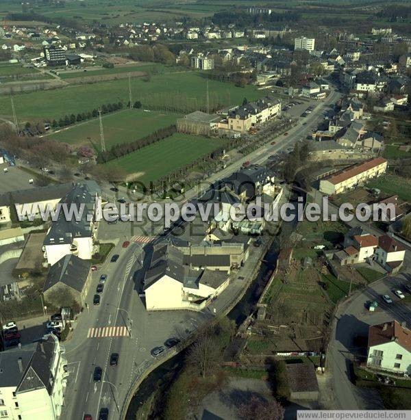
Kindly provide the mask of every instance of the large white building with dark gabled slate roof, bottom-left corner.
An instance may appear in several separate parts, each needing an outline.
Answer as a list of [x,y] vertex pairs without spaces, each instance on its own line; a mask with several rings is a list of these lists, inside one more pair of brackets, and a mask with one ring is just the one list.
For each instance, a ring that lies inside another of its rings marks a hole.
[[57,420],[66,389],[67,360],[58,338],[6,350],[0,356],[0,415],[12,420]]

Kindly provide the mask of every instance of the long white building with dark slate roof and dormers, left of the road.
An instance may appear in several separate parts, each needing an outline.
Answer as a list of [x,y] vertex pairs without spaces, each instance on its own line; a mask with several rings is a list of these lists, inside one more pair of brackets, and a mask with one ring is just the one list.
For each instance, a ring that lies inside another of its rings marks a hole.
[[79,220],[66,220],[64,211],[60,211],[58,219],[51,223],[42,247],[47,264],[53,265],[67,254],[91,259],[98,227],[96,215],[101,207],[101,191],[97,183],[84,181],[74,185],[60,202],[83,211],[79,212]]

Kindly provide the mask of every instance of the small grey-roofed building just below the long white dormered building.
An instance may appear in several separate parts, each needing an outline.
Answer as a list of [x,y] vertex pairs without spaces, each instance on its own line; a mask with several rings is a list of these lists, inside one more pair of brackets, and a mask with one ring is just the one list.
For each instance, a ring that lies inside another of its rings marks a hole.
[[45,284],[43,296],[47,302],[61,306],[60,302],[52,302],[53,293],[59,292],[71,296],[79,307],[84,306],[91,283],[91,263],[88,260],[67,254],[57,263],[51,265]]

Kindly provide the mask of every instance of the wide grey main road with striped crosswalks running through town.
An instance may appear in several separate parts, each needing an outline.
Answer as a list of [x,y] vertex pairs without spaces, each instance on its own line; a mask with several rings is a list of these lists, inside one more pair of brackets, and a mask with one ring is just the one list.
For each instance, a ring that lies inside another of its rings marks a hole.
[[[210,182],[223,179],[238,170],[243,161],[264,163],[269,155],[286,150],[297,140],[305,138],[323,120],[323,111],[340,97],[332,91],[325,101],[316,104],[306,118],[299,118],[297,125],[288,130],[288,135],[275,138],[253,151],[242,161],[232,163],[214,174]],[[304,124],[303,124],[304,122]],[[186,198],[195,197],[192,190]],[[116,225],[110,225],[116,226]],[[107,261],[93,273],[93,283],[87,299],[87,307],[79,315],[73,337],[66,343],[66,357],[70,372],[62,419],[82,419],[85,414],[97,419],[101,408],[109,409],[109,418],[118,419],[126,395],[136,376],[140,375],[154,359],[150,350],[163,345],[169,337],[190,334],[201,324],[208,322],[214,313],[204,310],[147,312],[139,296],[139,288],[149,263],[152,246],[134,241],[123,248],[125,235],[118,238],[116,247],[110,253],[119,254],[115,263]],[[108,274],[101,302],[92,304],[99,276]],[[219,298],[217,298],[217,301]],[[117,366],[110,366],[110,354],[119,354]],[[100,382],[94,382],[95,367],[101,367]]]

